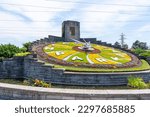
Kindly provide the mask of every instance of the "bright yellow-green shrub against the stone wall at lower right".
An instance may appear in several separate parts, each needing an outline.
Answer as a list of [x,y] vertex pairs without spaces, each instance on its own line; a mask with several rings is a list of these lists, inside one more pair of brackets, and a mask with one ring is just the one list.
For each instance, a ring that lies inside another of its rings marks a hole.
[[145,89],[148,88],[148,85],[143,81],[140,77],[130,76],[128,78],[128,86],[137,89]]

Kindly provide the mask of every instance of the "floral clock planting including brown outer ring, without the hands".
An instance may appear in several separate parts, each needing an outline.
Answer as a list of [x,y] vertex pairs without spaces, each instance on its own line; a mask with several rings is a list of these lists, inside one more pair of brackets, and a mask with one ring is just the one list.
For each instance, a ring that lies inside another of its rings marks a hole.
[[41,45],[36,53],[46,62],[78,67],[93,68],[127,68],[141,64],[140,60],[130,54],[111,47],[91,44],[92,51],[83,51],[81,43],[57,42]]

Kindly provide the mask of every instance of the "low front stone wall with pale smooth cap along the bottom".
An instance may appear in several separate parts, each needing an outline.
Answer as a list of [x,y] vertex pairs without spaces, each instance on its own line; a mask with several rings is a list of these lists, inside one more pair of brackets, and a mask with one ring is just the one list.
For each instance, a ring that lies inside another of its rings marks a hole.
[[81,90],[0,83],[0,99],[25,100],[149,100],[150,90]]

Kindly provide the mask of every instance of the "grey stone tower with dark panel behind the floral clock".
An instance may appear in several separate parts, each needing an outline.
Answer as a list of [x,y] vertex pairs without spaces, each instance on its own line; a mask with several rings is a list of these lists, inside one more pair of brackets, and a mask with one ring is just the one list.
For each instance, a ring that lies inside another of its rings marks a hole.
[[62,23],[62,37],[65,41],[72,41],[72,39],[80,39],[80,22],[77,21],[64,21]]

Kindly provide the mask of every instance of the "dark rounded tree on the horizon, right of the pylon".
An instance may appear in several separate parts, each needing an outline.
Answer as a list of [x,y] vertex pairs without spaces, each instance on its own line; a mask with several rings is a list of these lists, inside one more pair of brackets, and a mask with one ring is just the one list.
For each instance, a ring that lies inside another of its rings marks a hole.
[[141,48],[141,49],[146,50],[146,49],[148,49],[148,46],[147,46],[147,43],[145,43],[145,42],[140,42],[140,41],[136,40],[136,41],[133,43],[132,48],[133,48],[133,49]]

